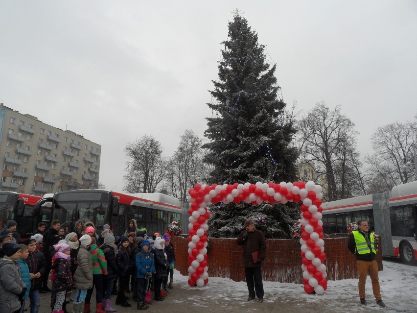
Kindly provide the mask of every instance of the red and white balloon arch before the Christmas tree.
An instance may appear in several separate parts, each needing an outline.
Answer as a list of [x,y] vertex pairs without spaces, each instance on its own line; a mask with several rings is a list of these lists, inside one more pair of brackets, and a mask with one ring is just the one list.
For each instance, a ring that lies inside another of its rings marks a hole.
[[233,185],[195,185],[188,190],[188,284],[203,287],[209,282],[207,263],[207,219],[210,214],[207,203],[230,202],[261,204],[302,202],[301,209],[301,257],[302,283],[306,293],[323,294],[327,289],[327,273],[324,260],[324,235],[322,221],[322,187],[313,181]]

